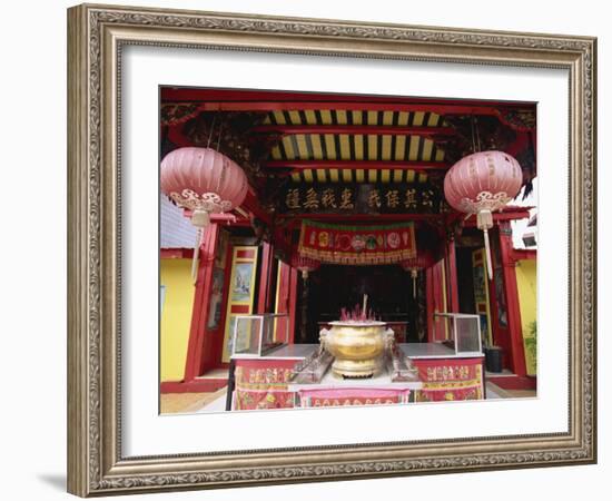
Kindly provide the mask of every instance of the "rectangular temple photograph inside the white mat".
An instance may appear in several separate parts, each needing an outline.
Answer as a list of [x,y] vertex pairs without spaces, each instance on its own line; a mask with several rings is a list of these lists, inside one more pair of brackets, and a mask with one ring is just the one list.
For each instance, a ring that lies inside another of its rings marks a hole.
[[536,106],[161,87],[160,413],[536,396]]

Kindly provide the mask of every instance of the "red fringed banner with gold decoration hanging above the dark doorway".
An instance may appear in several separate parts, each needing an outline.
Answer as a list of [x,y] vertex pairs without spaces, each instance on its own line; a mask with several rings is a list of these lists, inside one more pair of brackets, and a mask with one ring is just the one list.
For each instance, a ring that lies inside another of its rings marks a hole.
[[322,263],[399,263],[416,256],[414,224],[343,226],[304,220],[298,252]]

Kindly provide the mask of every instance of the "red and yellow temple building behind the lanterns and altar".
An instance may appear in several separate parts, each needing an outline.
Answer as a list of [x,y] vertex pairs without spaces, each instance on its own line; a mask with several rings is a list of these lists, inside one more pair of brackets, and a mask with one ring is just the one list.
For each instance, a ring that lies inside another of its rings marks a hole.
[[[516,200],[493,214],[488,276],[477,218],[448,204],[444,179],[476,149],[493,149],[520,161],[529,195],[536,178],[533,104],[181,87],[164,87],[160,101],[161,158],[211,147],[248,181],[238,207],[210,215],[196,281],[195,230],[187,235],[175,220],[191,214],[168,202],[179,217],[171,220],[177,238],[161,248],[166,391],[227,382],[203,380],[229,370],[238,315],[284,315],[286,334],[273,341],[305,353],[364,295],[397,344],[440,348],[452,341],[446,318],[477,314],[483,346],[501,350],[502,369],[527,374],[535,252],[514,247],[512,224],[532,207]],[[184,312],[191,313],[179,318]]]

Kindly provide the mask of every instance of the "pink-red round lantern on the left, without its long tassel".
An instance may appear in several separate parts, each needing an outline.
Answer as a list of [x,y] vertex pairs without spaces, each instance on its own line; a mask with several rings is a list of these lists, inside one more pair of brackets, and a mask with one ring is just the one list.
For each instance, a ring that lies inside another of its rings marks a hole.
[[179,148],[161,160],[161,190],[193,212],[191,223],[204,227],[210,214],[238,207],[248,181],[245,171],[213,148]]

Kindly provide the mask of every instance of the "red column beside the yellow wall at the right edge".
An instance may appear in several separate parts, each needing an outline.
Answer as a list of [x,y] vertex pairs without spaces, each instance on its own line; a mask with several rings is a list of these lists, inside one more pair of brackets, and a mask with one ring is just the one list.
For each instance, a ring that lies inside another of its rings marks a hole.
[[507,307],[507,328],[512,350],[512,371],[514,374],[526,375],[525,352],[523,346],[523,327],[521,324],[521,307],[519,304],[519,287],[516,285],[516,261],[513,258],[512,228],[510,222],[500,222],[500,250],[504,274],[504,288]]

